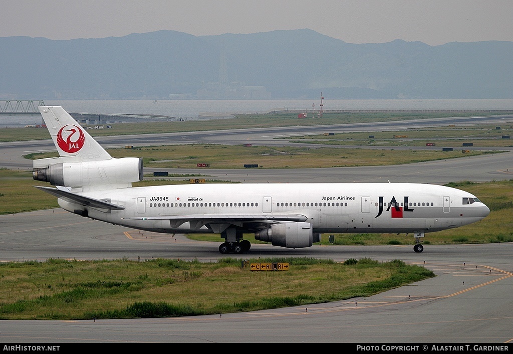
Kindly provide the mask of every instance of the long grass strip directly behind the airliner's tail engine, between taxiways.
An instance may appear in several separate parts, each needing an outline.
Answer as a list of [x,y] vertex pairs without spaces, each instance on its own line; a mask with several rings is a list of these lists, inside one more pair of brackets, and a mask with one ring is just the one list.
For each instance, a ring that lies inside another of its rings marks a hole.
[[[195,169],[208,163],[212,169],[243,169],[258,164],[265,169],[301,169],[313,167],[376,166],[443,160],[461,157],[461,150],[389,150],[339,147],[268,147],[215,144],[164,145],[108,149],[113,157],[142,157],[145,167]],[[494,152],[470,151],[465,156]],[[31,154],[31,159],[55,157],[57,153]],[[208,173],[208,170],[205,170]]]

